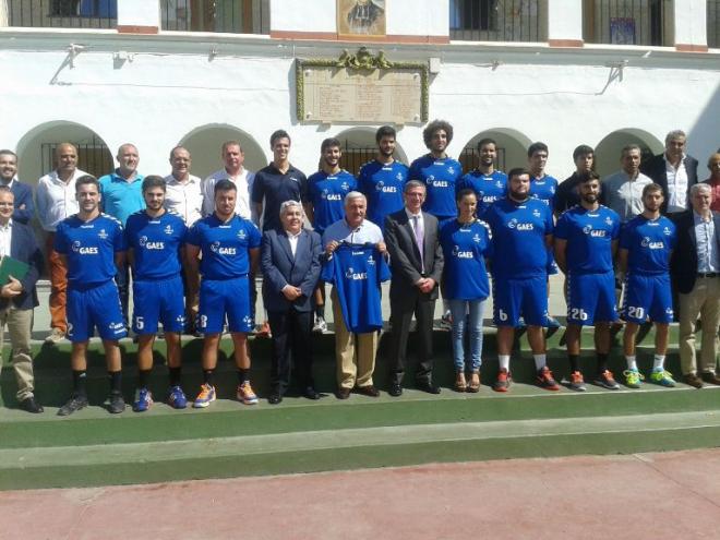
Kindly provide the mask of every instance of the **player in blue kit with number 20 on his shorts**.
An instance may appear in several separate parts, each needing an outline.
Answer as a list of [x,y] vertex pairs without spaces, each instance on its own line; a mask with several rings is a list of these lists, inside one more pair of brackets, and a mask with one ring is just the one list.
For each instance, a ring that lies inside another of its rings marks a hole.
[[673,320],[670,256],[676,236],[675,225],[660,214],[663,201],[659,184],[646,185],[643,189],[645,209],[625,225],[620,239],[619,266],[625,273],[622,315],[626,322],[623,351],[627,370],[624,375],[629,388],[639,388],[645,379],[637,369],[635,338],[639,325],[648,317],[656,328],[650,381],[661,386],[675,385],[664,364]]

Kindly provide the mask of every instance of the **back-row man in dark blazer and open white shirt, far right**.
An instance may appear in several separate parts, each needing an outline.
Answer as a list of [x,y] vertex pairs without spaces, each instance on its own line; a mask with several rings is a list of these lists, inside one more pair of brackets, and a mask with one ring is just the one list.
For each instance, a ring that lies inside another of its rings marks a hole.
[[697,159],[685,154],[687,136],[681,130],[665,135],[665,152],[651,157],[640,171],[662,188],[665,201],[660,212],[671,218],[689,209],[689,190],[697,183]]

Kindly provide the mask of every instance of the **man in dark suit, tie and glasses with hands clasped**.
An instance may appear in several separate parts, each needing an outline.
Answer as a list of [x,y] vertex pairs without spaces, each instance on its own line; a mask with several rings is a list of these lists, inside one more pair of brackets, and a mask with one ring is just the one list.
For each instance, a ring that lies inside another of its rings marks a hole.
[[405,208],[385,218],[385,242],[391,255],[391,396],[403,394],[410,321],[418,322],[419,363],[417,387],[440,394],[432,381],[432,326],[437,284],[443,273],[443,250],[439,242],[437,218],[422,212],[425,185],[417,180],[405,184]]

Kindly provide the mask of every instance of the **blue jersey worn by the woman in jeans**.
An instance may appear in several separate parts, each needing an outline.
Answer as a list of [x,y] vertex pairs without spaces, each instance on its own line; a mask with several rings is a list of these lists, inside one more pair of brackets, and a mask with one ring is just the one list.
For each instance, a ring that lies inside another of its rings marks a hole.
[[490,285],[484,260],[491,255],[490,239],[490,227],[484,221],[465,225],[457,219],[448,219],[441,225],[440,244],[445,255],[443,298],[488,298]]

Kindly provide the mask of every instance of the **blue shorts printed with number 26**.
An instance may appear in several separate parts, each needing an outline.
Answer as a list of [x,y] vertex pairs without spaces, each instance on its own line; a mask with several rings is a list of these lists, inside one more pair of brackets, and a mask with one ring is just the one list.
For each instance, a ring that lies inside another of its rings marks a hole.
[[615,273],[567,275],[567,322],[591,326],[617,321]]

